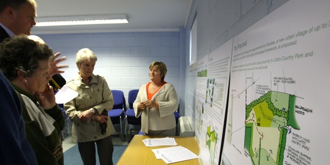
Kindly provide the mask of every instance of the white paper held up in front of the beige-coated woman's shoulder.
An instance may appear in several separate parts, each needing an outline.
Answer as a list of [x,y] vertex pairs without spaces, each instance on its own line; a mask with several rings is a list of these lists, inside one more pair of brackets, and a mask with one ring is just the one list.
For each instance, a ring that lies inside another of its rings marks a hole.
[[60,90],[55,94],[55,101],[57,104],[67,103],[78,96],[78,92],[70,89],[66,85],[61,87]]

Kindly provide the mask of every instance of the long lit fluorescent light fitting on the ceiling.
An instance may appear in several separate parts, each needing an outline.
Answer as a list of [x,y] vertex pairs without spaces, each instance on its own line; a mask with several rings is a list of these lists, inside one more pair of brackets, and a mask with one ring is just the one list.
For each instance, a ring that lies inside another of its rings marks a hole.
[[121,15],[94,15],[70,17],[37,17],[36,26],[63,26],[87,24],[128,23],[126,14]]

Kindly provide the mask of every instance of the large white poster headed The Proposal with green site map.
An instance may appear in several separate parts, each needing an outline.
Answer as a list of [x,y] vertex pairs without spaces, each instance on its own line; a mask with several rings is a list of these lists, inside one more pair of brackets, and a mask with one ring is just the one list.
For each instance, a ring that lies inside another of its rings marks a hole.
[[291,0],[234,38],[223,164],[328,164],[329,7]]

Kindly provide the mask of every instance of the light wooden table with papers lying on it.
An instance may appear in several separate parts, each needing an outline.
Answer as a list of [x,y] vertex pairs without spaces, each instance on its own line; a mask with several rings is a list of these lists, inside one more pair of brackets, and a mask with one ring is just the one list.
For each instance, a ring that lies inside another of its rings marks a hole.
[[[158,146],[158,147],[147,147],[142,140],[147,138],[164,138],[163,136],[145,136],[136,135],[128,144],[126,150],[119,158],[118,165],[128,164],[167,164],[162,159],[156,159],[155,154],[151,151],[157,148],[166,148],[173,146]],[[178,146],[182,146],[190,150],[196,155],[199,155],[200,149],[194,137],[173,137],[177,142]],[[171,164],[200,164],[199,159],[190,159],[185,161],[179,161]]]

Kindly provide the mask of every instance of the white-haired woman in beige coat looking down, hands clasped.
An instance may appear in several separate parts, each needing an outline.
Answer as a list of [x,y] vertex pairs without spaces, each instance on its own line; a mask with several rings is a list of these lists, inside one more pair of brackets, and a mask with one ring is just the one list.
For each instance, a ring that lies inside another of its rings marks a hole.
[[[78,149],[84,164],[95,164],[95,143],[101,164],[113,164],[113,144],[111,134],[114,128],[108,115],[114,105],[112,92],[107,81],[93,74],[97,57],[87,49],[81,49],[76,55],[79,69],[76,78],[67,82],[67,86],[78,92],[78,96],[64,104],[65,112],[73,120],[72,138],[78,142]],[[106,113],[108,114],[108,113]],[[101,124],[107,123],[102,133]]]

